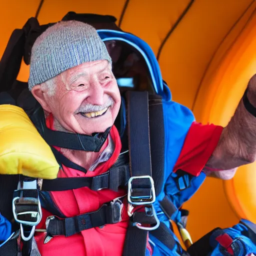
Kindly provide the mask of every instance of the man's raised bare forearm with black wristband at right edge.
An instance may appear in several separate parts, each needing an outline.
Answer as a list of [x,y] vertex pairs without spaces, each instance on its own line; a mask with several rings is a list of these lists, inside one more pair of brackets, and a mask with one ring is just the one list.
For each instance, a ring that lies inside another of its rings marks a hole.
[[[247,97],[256,107],[255,76],[248,83]],[[255,127],[256,117],[246,110],[241,99],[206,166],[229,170],[253,162],[256,156]]]

